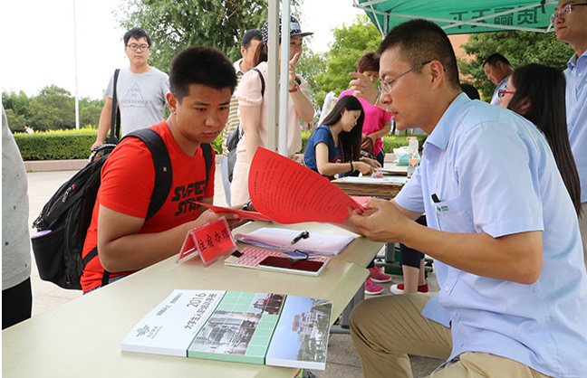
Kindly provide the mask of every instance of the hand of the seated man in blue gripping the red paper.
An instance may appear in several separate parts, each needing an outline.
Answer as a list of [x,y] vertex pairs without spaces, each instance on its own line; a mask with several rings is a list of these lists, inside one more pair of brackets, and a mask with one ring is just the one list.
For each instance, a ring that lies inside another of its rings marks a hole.
[[355,210],[348,218],[353,229],[358,230],[370,241],[396,242],[409,232],[414,222],[399,212],[398,207],[390,201],[371,198],[366,208],[370,215]]

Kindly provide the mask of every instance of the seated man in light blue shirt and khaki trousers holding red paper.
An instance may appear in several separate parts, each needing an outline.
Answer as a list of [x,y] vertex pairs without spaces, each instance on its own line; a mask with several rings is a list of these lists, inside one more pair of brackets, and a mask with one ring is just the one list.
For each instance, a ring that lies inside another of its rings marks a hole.
[[[370,215],[349,222],[370,240],[433,257],[440,292],[355,307],[351,335],[365,377],[411,377],[408,354],[446,358],[435,378],[586,376],[579,224],[546,139],[460,91],[438,25],[400,24],[379,52],[380,105],[400,130],[429,137],[395,200],[370,200]],[[412,222],[421,213],[428,228]]]

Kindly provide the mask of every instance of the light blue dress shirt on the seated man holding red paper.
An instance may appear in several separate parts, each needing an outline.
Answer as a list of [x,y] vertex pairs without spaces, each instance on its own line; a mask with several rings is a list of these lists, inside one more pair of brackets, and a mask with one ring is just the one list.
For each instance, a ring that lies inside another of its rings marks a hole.
[[434,261],[440,292],[422,315],[450,326],[447,361],[486,352],[555,377],[587,376],[587,274],[579,225],[550,147],[532,123],[461,93],[395,200],[425,212],[428,227],[443,232],[497,238],[543,231],[543,268],[532,285]]

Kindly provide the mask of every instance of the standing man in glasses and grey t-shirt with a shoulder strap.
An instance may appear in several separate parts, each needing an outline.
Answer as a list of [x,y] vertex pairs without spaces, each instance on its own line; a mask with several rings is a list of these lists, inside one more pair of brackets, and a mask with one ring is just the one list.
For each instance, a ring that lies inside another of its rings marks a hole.
[[[130,65],[120,70],[116,85],[116,97],[120,108],[120,137],[139,128],[149,128],[165,117],[169,78],[165,72],[149,66],[151,40],[139,27],[124,34],[124,52]],[[101,146],[111,129],[114,75],[104,91],[104,108],[98,123],[98,136],[91,146]]]

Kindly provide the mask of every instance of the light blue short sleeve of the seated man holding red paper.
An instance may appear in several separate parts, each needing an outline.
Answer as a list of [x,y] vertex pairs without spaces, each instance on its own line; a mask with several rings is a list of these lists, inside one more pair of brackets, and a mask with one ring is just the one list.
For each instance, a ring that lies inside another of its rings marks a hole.
[[515,127],[484,122],[459,138],[459,194],[476,229],[494,238],[544,230],[535,154]]

